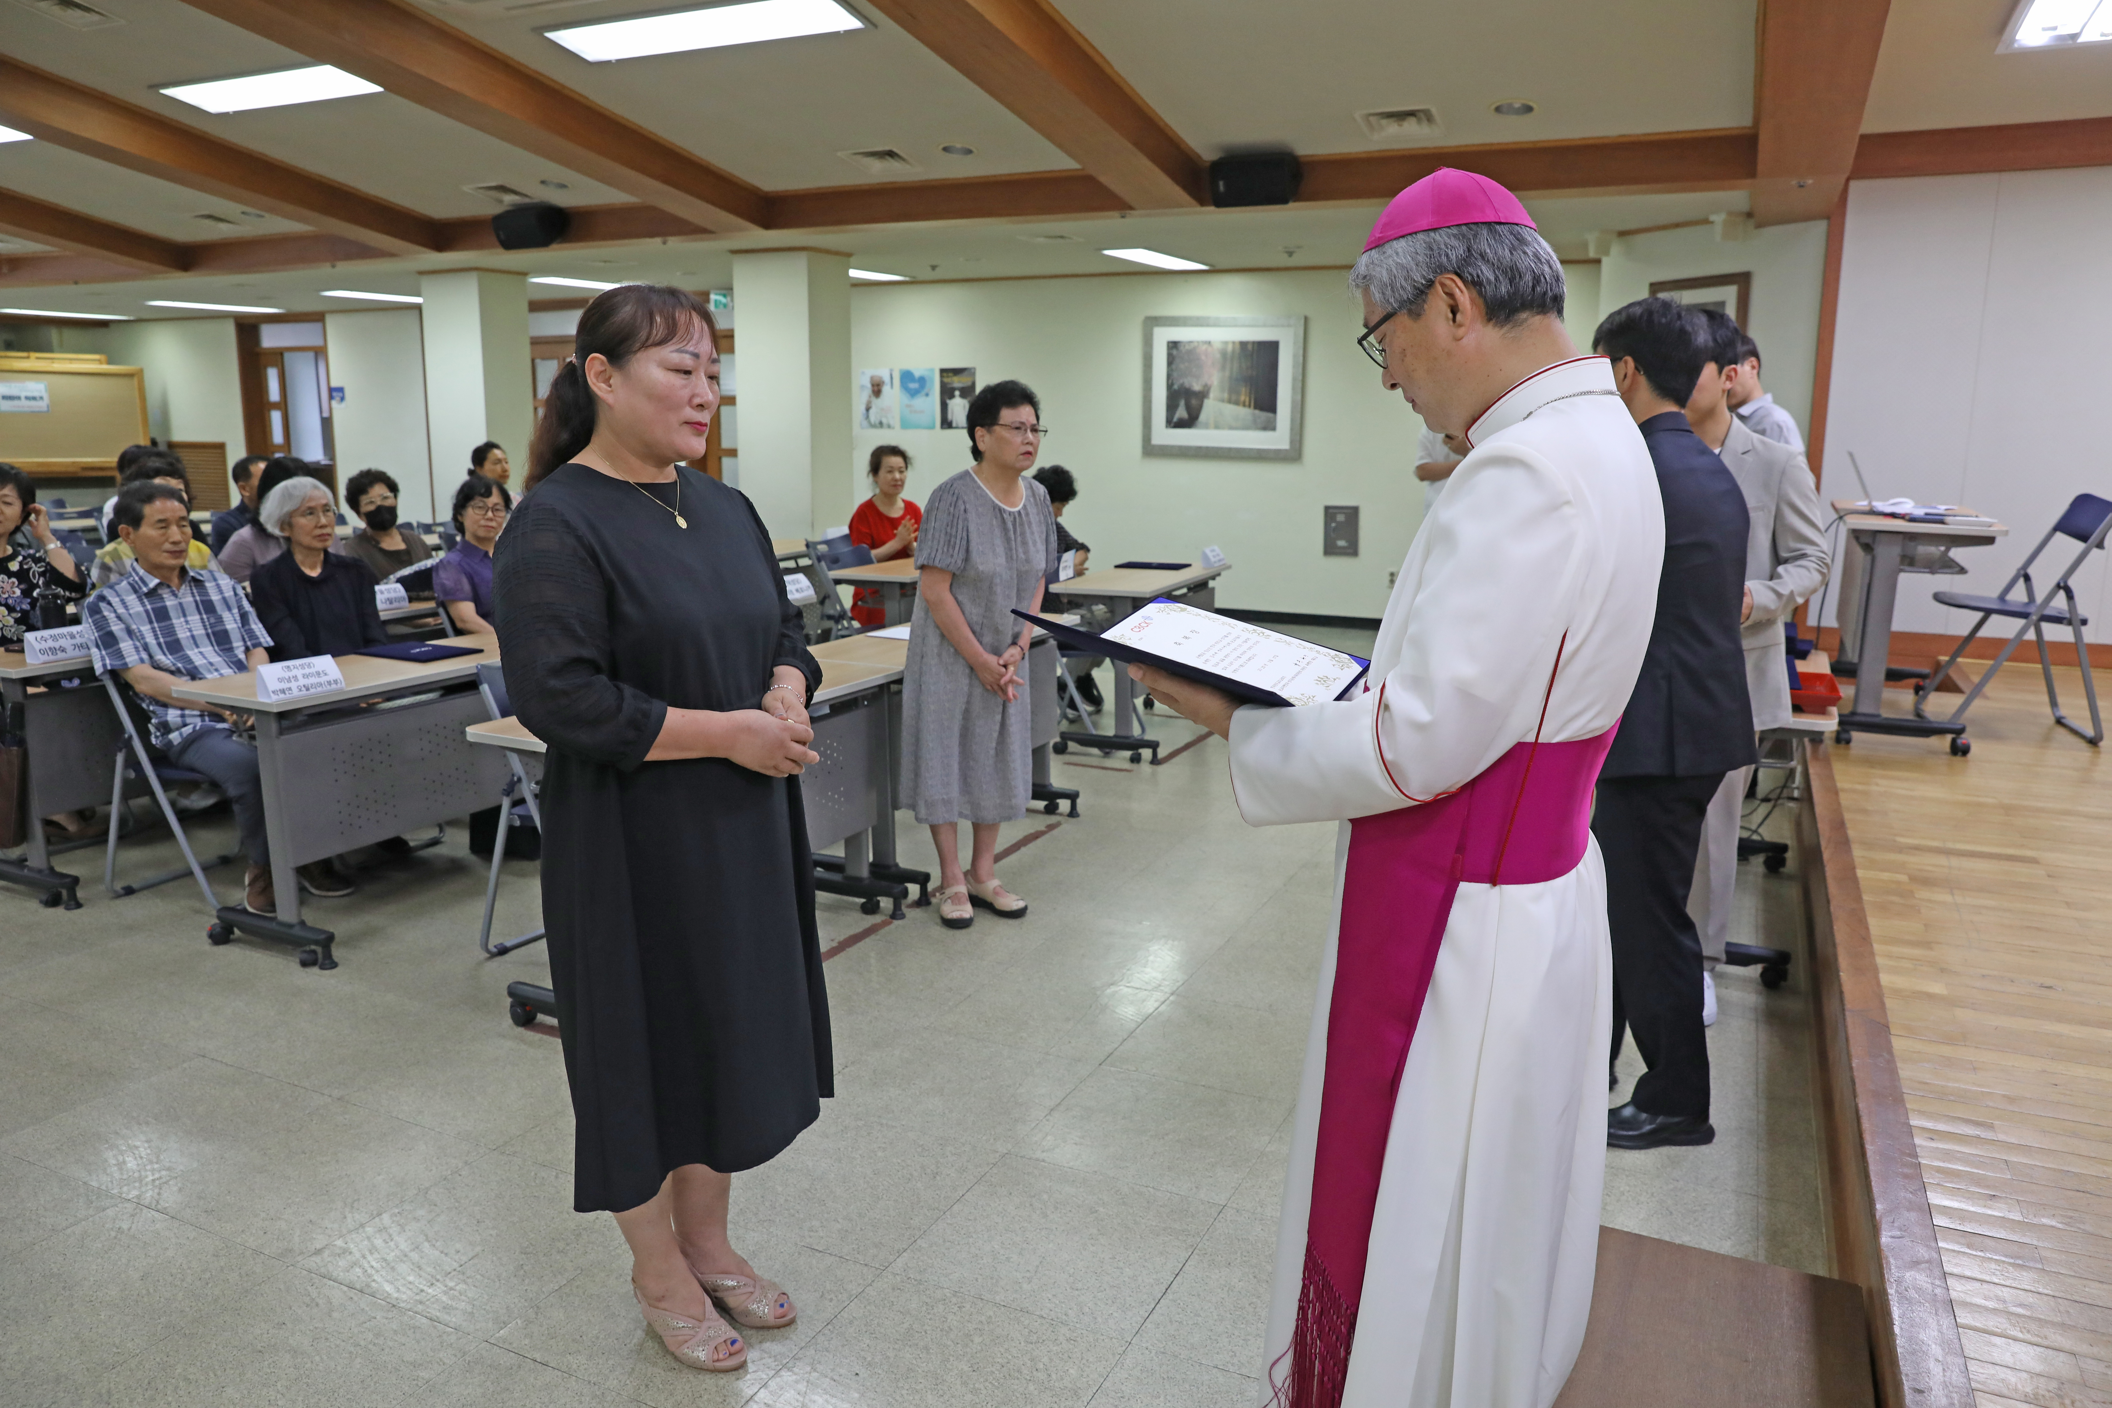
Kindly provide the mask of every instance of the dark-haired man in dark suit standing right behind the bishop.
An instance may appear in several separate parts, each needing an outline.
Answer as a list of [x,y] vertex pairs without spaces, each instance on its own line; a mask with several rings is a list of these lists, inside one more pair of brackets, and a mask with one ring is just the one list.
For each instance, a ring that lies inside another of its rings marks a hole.
[[1755,762],[1738,638],[1745,494],[1685,418],[1709,355],[1698,312],[1645,298],[1611,312],[1592,344],[1614,363],[1664,500],[1658,619],[1592,811],[1614,933],[1614,1055],[1626,1028],[1649,1066],[1628,1104],[1607,1110],[1607,1144],[1709,1144],[1702,948],[1687,889],[1709,798]]

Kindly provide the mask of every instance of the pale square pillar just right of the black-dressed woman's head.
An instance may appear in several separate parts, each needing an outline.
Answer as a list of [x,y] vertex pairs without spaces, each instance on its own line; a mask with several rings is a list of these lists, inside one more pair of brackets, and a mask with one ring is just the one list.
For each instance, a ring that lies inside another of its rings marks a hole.
[[851,519],[851,255],[733,255],[741,492],[779,538]]

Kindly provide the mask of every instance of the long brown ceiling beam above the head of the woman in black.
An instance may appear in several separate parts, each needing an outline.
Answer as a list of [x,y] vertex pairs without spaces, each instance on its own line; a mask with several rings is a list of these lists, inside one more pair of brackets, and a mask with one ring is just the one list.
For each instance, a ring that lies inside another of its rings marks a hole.
[[192,8],[334,63],[397,97],[534,152],[718,234],[756,230],[767,196],[397,0],[188,0]]

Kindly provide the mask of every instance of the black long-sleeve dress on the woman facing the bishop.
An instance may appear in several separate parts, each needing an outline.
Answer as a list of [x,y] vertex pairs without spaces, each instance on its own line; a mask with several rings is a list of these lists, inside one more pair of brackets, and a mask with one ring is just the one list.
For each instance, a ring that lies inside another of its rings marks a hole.
[[[543,925],[579,1121],[572,1205],[621,1212],[670,1169],[767,1163],[834,1093],[798,779],[644,762],[670,707],[819,686],[769,534],[737,490],[566,464],[494,553],[498,644],[543,770]],[[650,500],[650,502],[648,502]]]

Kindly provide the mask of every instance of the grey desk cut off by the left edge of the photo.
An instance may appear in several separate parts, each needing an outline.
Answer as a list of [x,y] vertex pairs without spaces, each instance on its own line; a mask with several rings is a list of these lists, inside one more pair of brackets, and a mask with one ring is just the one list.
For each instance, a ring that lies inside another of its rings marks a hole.
[[53,868],[44,817],[110,802],[125,732],[84,654],[30,665],[19,650],[0,650],[0,699],[8,711],[21,709],[30,764],[27,844],[19,861],[0,857],[0,880],[38,891],[44,908],[78,910],[80,876]]

